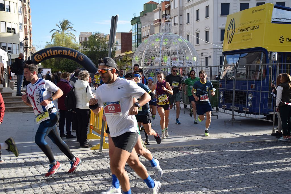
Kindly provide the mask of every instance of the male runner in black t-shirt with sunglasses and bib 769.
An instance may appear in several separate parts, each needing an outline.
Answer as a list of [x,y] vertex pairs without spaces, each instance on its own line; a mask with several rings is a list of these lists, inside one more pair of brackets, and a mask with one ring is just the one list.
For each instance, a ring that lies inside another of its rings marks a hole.
[[172,73],[166,76],[166,82],[169,82],[171,88],[173,89],[173,94],[169,94],[169,103],[170,109],[173,108],[173,103],[176,105],[176,124],[180,125],[179,116],[180,116],[180,90],[182,90],[182,78],[177,74],[178,69],[176,66],[171,68]]

